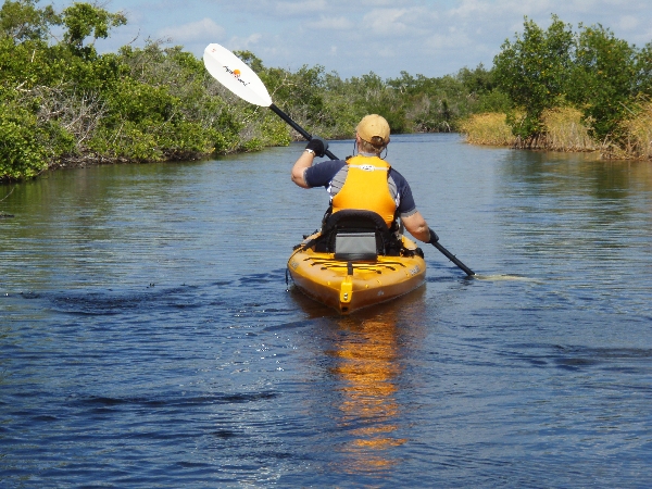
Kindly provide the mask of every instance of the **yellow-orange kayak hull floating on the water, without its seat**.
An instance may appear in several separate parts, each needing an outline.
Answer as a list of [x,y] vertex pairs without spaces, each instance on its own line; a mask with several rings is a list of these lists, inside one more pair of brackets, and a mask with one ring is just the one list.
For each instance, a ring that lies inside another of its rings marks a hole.
[[426,280],[423,252],[404,236],[399,255],[371,260],[342,260],[333,252],[315,251],[311,243],[318,237],[315,233],[296,247],[288,260],[288,273],[304,294],[341,314],[396,299]]

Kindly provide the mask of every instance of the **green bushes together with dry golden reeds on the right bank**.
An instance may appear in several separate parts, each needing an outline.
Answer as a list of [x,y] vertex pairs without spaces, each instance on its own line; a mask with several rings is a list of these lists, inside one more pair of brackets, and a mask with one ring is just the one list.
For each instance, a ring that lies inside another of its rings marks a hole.
[[610,159],[652,159],[652,43],[638,49],[602,27],[555,15],[547,30],[525,20],[491,70],[510,106],[461,122],[468,142]]

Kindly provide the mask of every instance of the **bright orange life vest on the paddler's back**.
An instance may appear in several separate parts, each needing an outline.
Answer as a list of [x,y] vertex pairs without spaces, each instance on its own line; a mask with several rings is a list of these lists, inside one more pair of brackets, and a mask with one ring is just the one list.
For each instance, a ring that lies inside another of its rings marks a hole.
[[397,204],[389,191],[391,166],[378,156],[353,156],[341,190],[333,198],[333,213],[344,209],[373,211],[391,226]]

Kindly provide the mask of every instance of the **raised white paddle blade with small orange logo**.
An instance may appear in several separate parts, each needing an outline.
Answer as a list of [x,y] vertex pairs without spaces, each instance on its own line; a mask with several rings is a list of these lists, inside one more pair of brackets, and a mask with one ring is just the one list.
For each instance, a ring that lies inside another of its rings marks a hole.
[[206,46],[204,66],[217,82],[241,99],[260,106],[272,105],[263,82],[228,49],[215,43]]

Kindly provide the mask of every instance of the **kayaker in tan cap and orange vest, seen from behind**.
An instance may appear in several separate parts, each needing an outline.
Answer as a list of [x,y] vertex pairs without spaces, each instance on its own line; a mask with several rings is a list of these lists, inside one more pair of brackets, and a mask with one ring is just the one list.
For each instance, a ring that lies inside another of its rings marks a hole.
[[292,166],[292,181],[302,188],[325,187],[330,195],[330,212],[346,209],[373,211],[388,228],[400,217],[404,228],[427,243],[439,240],[417,211],[408,180],[380,155],[390,141],[385,117],[366,115],[355,128],[356,155],[347,161],[330,160],[313,165],[323,158],[328,142],[313,137]]

